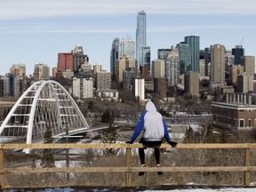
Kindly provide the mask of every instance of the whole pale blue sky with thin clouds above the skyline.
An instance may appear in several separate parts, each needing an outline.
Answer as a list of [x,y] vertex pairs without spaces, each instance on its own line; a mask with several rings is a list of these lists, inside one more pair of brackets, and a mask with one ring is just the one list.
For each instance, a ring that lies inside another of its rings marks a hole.
[[140,11],[151,60],[185,36],[199,36],[200,49],[242,44],[245,55],[256,55],[255,0],[0,0],[0,75],[19,63],[27,75],[38,62],[57,67],[58,53],[78,44],[92,65],[110,71],[113,40],[136,40]]

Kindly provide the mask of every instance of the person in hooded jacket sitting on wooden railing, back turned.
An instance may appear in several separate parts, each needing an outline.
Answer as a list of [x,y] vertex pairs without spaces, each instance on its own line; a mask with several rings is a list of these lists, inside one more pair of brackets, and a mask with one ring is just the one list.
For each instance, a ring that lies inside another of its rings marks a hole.
[[[162,144],[163,138],[169,143],[172,148],[177,147],[177,142],[170,140],[169,133],[167,131],[167,126],[164,122],[164,117],[157,112],[156,106],[152,101],[148,101],[146,104],[146,111],[140,115],[140,120],[137,123],[135,130],[130,141],[126,143],[132,144],[134,140],[140,135],[144,127],[143,136],[140,139],[143,148],[139,148],[139,156],[141,167],[145,167],[145,152],[146,148],[154,148],[156,167],[160,167],[160,146]],[[139,176],[143,175],[144,172],[139,172]],[[163,174],[163,172],[158,172],[158,174]]]

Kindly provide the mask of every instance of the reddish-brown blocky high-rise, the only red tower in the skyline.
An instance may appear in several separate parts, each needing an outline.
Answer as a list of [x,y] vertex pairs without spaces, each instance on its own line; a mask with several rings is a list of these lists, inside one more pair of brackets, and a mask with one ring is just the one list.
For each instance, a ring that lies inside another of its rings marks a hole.
[[73,71],[73,53],[60,52],[58,53],[58,71],[63,72],[66,70]]

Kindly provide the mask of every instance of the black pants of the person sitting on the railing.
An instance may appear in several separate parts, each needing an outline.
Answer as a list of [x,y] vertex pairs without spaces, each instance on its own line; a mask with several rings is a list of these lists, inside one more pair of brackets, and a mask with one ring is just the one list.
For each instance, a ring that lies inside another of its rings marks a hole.
[[140,139],[140,143],[142,143],[144,148],[139,148],[139,155],[140,155],[140,163],[145,164],[145,151],[146,148],[154,148],[154,155],[156,158],[156,164],[160,164],[160,146],[162,144],[162,140],[156,140],[156,141],[147,141],[144,140],[142,137]]

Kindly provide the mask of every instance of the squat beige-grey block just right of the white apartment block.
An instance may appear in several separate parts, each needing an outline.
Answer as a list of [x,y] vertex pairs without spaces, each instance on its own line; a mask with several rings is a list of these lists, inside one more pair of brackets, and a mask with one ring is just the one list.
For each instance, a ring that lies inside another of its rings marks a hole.
[[111,73],[107,71],[99,71],[96,73],[96,89],[111,88]]

